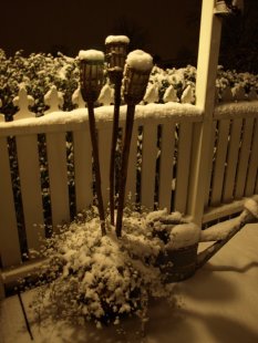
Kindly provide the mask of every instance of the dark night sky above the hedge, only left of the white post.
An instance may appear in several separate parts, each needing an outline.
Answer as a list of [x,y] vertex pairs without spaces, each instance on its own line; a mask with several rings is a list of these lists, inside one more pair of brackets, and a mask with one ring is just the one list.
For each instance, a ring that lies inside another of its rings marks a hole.
[[[197,3],[197,8],[194,4]],[[198,22],[189,27],[187,18],[200,13],[199,0],[23,0],[1,4],[0,48],[8,54],[51,52],[65,46],[74,56],[81,49],[104,49],[106,35],[125,20],[137,30],[144,50],[163,60],[176,58],[187,46],[198,44]],[[198,15],[197,15],[198,17]]]

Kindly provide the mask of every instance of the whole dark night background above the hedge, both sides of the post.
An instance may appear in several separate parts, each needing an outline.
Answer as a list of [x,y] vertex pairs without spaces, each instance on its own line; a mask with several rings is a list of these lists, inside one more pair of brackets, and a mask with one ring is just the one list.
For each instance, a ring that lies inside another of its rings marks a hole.
[[[0,48],[7,55],[104,49],[109,34],[126,34],[161,65],[196,64],[202,0],[23,0],[1,3]],[[257,72],[258,0],[224,22],[220,63]],[[255,70],[256,69],[256,70]]]

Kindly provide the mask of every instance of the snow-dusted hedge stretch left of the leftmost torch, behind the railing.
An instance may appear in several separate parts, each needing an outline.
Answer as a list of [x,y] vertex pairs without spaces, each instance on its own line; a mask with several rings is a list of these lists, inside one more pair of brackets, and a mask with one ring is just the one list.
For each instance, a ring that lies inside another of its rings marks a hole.
[[17,96],[19,85],[25,85],[35,103],[32,112],[41,115],[45,110],[44,94],[55,85],[64,96],[64,111],[73,108],[71,97],[78,87],[79,70],[76,61],[63,54],[53,58],[51,54],[30,54],[28,58],[18,51],[13,56],[7,58],[0,50],[0,98],[1,113],[7,119],[17,112],[12,101]]

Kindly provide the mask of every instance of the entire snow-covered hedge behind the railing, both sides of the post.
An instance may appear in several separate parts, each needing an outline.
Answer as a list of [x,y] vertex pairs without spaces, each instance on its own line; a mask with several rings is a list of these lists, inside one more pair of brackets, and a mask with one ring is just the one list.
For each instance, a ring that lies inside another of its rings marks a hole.
[[[195,82],[195,66],[167,70],[154,66],[144,102],[194,103]],[[72,103],[72,94],[79,86],[78,61],[61,53],[56,58],[44,53],[32,53],[25,58],[22,51],[7,58],[4,51],[0,50],[0,101],[2,103],[0,112],[6,114],[7,118],[17,112],[12,101],[21,83],[25,85],[28,94],[35,100],[32,111],[38,115],[45,111],[44,95],[53,85],[63,94],[63,110],[70,111],[75,106]],[[239,86],[246,94],[250,91],[258,92],[258,75],[225,71],[219,66],[216,86],[218,100],[224,97],[223,93],[228,89],[236,95]]]

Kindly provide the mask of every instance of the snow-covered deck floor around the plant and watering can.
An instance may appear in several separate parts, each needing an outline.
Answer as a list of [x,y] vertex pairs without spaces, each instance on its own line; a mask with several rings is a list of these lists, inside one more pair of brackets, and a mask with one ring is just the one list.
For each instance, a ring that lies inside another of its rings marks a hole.
[[[34,342],[258,342],[257,247],[258,225],[248,225],[192,279],[176,285],[175,309],[165,302],[152,304],[144,341],[135,319],[123,322],[123,330],[96,330],[89,324],[82,329],[50,321],[39,326],[29,308],[32,293],[24,293]],[[0,305],[0,342],[31,342],[18,297],[7,298]]]

